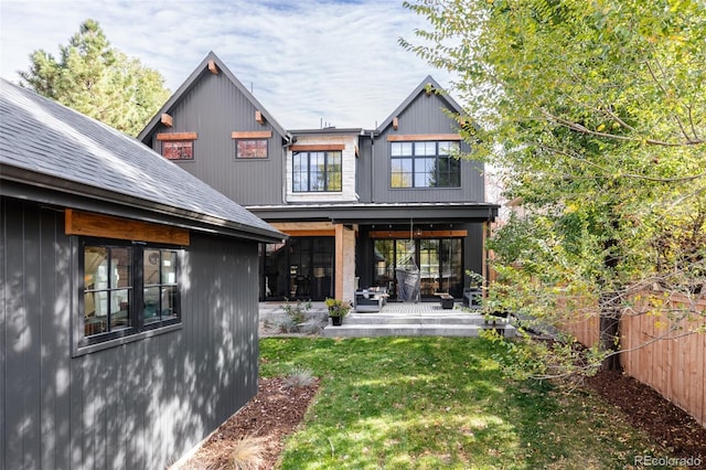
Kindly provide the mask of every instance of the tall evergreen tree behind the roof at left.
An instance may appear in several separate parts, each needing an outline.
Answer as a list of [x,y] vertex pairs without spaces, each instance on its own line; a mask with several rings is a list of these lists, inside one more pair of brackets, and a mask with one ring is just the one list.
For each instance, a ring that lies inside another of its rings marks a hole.
[[169,97],[164,78],[113,47],[94,20],[82,23],[60,52],[56,61],[34,51],[30,70],[19,72],[20,85],[131,136]]

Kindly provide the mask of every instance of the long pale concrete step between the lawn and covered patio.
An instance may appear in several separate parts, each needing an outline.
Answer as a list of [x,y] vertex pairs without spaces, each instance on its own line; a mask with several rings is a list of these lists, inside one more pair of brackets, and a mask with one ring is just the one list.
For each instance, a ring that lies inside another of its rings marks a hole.
[[483,330],[494,329],[505,337],[514,337],[515,328],[503,321],[485,322],[474,313],[458,314],[349,314],[341,327],[329,324],[323,335],[329,338],[371,337],[478,337]]

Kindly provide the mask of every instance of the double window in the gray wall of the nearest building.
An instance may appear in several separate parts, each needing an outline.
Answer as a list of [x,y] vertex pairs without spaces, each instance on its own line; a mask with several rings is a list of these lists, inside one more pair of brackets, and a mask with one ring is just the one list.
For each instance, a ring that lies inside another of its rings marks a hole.
[[83,339],[89,345],[181,322],[181,250],[85,239]]

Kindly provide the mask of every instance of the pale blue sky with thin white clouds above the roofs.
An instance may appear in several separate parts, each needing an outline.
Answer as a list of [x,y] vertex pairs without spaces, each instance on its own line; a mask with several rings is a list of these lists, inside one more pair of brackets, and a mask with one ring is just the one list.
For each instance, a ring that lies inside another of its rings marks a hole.
[[0,76],[89,18],[172,92],[213,51],[286,129],[375,128],[427,75],[451,84],[399,46],[428,28],[402,0],[0,0]]

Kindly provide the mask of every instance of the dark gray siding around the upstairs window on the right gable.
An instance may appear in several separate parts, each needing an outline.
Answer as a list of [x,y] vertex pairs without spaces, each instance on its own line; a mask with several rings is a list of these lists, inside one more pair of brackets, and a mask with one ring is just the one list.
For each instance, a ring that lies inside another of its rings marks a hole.
[[[475,161],[461,162],[461,188],[453,189],[391,189],[388,135],[457,133],[454,122],[445,114],[443,99],[435,94],[421,93],[398,116],[399,127],[384,129],[375,139],[372,154],[372,175],[360,174],[361,196],[372,194],[372,200],[362,202],[484,202],[482,164]],[[469,151],[463,142],[462,151]],[[363,158],[370,158],[370,154]],[[371,171],[365,164],[360,170]],[[372,184],[372,188],[368,188]]]

